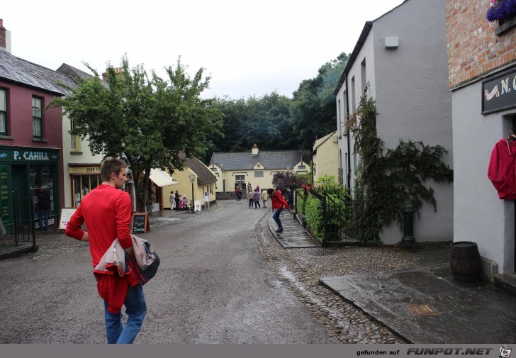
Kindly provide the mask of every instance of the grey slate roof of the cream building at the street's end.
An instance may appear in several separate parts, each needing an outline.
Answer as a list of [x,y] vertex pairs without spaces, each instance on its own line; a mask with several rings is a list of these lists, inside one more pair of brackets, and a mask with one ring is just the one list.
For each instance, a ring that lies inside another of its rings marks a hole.
[[310,150],[278,150],[278,151],[259,151],[258,155],[252,152],[213,152],[210,164],[218,165],[224,170],[249,170],[257,162],[262,164],[265,169],[285,169],[293,168],[294,165],[303,162],[310,162]]

